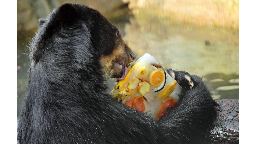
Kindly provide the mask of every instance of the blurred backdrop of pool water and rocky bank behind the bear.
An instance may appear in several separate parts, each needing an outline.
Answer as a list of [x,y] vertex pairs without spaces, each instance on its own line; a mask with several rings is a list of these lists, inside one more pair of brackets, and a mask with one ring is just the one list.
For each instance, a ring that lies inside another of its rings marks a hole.
[[[101,12],[136,60],[149,53],[166,68],[203,77],[214,99],[238,98],[238,0],[18,0],[18,115],[38,19],[64,3]],[[108,81],[111,89],[115,81]]]

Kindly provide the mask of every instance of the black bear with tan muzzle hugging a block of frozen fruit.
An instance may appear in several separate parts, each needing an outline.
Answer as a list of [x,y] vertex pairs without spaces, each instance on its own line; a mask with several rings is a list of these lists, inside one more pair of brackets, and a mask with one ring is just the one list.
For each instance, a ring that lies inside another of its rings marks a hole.
[[215,109],[200,77],[168,69],[184,89],[177,107],[156,121],[109,94],[106,79],[122,79],[136,55],[104,16],[64,4],[39,23],[18,143],[207,142]]

